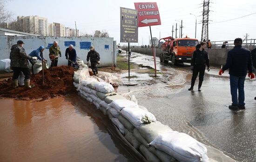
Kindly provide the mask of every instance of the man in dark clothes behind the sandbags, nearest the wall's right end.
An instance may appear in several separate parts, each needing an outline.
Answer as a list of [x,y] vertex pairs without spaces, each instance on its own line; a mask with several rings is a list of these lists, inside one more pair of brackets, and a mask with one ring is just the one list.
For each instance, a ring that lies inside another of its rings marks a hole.
[[90,47],[90,51],[87,54],[87,65],[89,65],[89,60],[91,62],[91,68],[94,72],[94,75],[98,74],[97,64],[100,64],[100,54],[94,50],[94,47]]

